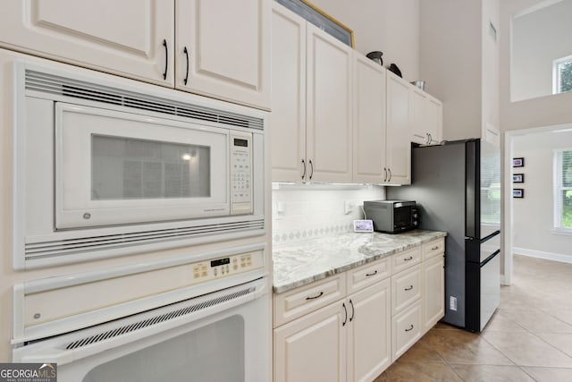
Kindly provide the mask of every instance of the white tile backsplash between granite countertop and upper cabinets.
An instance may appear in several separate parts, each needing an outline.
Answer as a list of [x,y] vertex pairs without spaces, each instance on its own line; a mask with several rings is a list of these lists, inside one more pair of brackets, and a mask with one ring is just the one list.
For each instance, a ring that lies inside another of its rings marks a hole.
[[363,201],[379,199],[383,186],[273,183],[273,244],[353,231]]

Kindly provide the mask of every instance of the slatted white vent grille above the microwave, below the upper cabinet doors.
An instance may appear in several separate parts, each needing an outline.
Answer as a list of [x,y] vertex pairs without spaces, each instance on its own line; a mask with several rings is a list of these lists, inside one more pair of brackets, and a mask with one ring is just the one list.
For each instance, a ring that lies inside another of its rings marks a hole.
[[213,123],[264,130],[264,120],[212,107],[178,102],[124,89],[66,78],[52,73],[26,70],[26,89],[56,96],[88,99],[167,115],[177,115]]

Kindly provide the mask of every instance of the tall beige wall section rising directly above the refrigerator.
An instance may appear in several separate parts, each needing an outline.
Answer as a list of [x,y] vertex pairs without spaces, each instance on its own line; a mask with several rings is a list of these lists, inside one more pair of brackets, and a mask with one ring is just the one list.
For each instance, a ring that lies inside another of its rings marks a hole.
[[442,100],[444,140],[480,136],[481,13],[480,1],[420,3],[420,72],[427,91]]

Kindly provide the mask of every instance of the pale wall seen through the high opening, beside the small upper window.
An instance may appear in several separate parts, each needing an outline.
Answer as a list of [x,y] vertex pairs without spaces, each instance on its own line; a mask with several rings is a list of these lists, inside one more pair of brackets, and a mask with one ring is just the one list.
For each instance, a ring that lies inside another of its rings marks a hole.
[[552,94],[552,64],[572,55],[572,0],[560,1],[512,21],[511,98]]

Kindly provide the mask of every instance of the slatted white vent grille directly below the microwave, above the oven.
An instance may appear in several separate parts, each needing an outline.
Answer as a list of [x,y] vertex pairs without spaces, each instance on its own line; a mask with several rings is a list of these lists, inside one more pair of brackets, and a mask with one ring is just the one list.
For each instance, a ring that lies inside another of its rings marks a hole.
[[[262,232],[265,229],[264,219],[221,223],[213,225],[185,226],[170,229],[139,231],[134,233],[116,233],[99,236],[86,236],[75,239],[54,240],[48,242],[26,243],[26,260],[54,259],[69,255],[93,252],[94,250],[117,250],[118,248],[136,247],[141,244],[157,242],[200,241],[216,234],[244,233],[247,231]],[[223,237],[221,237],[223,240]],[[181,243],[186,244],[186,242]]]

